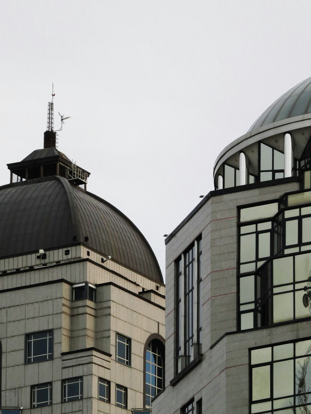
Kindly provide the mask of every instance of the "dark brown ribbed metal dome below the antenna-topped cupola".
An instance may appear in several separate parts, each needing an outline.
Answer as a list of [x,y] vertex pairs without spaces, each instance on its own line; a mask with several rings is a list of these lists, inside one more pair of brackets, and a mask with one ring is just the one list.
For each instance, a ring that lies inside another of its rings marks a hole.
[[163,283],[146,239],[108,202],[61,176],[0,187],[0,258],[72,246],[85,236],[90,248]]

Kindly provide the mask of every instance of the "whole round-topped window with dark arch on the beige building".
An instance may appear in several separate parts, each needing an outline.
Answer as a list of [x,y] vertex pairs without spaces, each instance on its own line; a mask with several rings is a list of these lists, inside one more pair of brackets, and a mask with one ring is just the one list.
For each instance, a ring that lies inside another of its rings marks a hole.
[[164,388],[164,345],[160,339],[146,343],[144,377],[145,407],[151,407],[153,397]]

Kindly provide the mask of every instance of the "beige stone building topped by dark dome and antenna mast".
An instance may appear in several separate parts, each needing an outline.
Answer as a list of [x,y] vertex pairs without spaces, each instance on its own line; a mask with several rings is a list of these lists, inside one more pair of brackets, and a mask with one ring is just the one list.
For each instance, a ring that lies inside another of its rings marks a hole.
[[151,247],[56,149],[53,102],[44,148],[8,168],[0,413],[150,412],[164,384],[165,319]]

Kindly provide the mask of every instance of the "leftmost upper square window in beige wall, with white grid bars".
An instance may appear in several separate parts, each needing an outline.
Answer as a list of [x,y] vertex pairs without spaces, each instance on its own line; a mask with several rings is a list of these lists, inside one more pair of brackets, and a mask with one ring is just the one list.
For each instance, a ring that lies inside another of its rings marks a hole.
[[26,363],[53,359],[53,332],[44,331],[26,335]]

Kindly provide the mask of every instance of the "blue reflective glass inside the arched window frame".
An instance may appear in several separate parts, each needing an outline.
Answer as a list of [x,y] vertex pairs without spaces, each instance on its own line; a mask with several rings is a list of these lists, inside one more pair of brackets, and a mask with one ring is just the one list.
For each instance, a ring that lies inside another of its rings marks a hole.
[[146,407],[151,407],[151,400],[163,388],[163,360],[155,341],[148,344],[146,351]]

